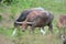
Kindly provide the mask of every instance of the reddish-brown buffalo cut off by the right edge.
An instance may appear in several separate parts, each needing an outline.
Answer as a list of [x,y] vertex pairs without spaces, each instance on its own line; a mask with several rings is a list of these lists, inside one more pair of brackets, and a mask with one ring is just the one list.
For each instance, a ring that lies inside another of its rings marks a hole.
[[66,15],[59,15],[58,21],[57,21],[57,28],[59,29],[59,35],[62,34],[61,31],[64,29],[64,34],[65,34],[65,28],[66,28]]

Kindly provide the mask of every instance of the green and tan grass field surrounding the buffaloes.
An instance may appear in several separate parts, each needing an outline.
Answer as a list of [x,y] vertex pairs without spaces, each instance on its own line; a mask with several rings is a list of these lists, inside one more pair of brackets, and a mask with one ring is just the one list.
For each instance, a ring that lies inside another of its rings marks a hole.
[[[2,3],[0,6],[0,44],[10,43],[14,44],[62,44],[62,40],[58,37],[58,29],[56,28],[56,21],[59,14],[66,13],[66,0],[16,0],[18,2],[7,6]],[[45,28],[46,34],[42,35],[38,30],[35,30],[35,34],[29,34],[29,31],[14,36],[11,36],[13,32],[13,22],[20,15],[24,9],[42,7],[54,14],[53,21],[53,34],[48,33]],[[2,41],[2,38],[4,41]],[[1,43],[2,41],[2,43]],[[19,42],[20,41],[20,42]]]

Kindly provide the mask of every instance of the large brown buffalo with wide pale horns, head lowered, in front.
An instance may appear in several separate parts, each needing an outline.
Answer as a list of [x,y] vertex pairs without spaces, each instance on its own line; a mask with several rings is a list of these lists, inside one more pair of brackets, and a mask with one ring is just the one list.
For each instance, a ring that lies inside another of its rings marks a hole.
[[34,28],[41,28],[42,33],[44,33],[44,26],[47,25],[48,29],[53,30],[52,21],[53,14],[44,9],[30,9],[31,11],[26,14],[26,18],[23,22],[15,21],[16,24],[22,24],[22,31],[24,32],[28,26],[34,32]]

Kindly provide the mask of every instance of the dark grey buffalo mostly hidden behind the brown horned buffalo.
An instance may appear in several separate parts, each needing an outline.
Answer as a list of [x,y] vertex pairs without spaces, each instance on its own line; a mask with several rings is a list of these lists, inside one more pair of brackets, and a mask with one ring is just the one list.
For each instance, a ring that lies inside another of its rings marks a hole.
[[[26,16],[29,15],[29,13],[32,12],[32,11],[34,11],[34,10],[36,10],[36,11],[44,11],[43,8],[31,8],[31,9],[24,10],[20,14],[20,16],[14,21],[14,29],[18,28],[18,25],[22,25],[21,23],[16,23],[16,22],[23,22],[26,19]],[[13,31],[13,35],[15,34],[15,31],[16,31],[16,29]]]

